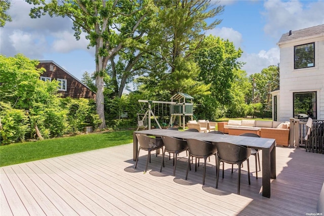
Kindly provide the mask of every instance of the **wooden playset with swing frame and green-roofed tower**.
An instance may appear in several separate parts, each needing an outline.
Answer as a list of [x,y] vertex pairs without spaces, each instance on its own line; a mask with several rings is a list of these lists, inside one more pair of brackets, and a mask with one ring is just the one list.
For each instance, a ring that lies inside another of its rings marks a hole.
[[[193,103],[192,100],[194,98],[191,97],[190,95],[186,93],[181,93],[178,92],[177,94],[173,95],[171,97],[171,101],[156,101],[156,100],[138,100],[138,102],[144,102],[148,103],[147,111],[145,114],[140,114],[138,113],[138,127],[139,128],[146,128],[148,126],[148,129],[151,129],[151,117],[155,120],[155,123],[157,124],[158,128],[161,129],[161,126],[154,115],[154,112],[152,111],[152,104],[157,103],[157,104],[162,104],[162,112],[164,111],[163,106],[166,106],[166,115],[167,115],[167,106],[169,105],[169,115],[170,115],[170,120],[169,120],[169,125],[173,126],[173,123],[175,119],[178,117],[179,118],[179,127],[181,127],[181,122],[183,125],[183,128],[185,127],[185,117],[190,116],[191,120],[193,120]],[[189,100],[190,102],[187,102]],[[155,107],[155,106],[154,106]],[[143,118],[140,118],[140,116],[143,116]],[[163,118],[164,118],[163,114]],[[147,121],[147,125],[145,125],[145,121]]]

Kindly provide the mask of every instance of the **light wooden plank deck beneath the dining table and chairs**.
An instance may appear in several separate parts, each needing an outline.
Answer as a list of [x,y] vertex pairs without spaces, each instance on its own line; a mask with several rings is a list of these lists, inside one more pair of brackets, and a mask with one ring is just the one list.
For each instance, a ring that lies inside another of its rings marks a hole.
[[303,149],[276,148],[270,199],[260,193],[262,172],[256,179],[253,156],[251,185],[244,163],[237,195],[237,169],[231,174],[230,165],[215,189],[213,157],[203,186],[202,163],[185,181],[185,153],[176,177],[172,160],[159,172],[161,155],[152,155],[144,173],[146,153],[137,169],[133,144],[1,167],[0,215],[305,215],[316,213],[324,182],[324,155]]

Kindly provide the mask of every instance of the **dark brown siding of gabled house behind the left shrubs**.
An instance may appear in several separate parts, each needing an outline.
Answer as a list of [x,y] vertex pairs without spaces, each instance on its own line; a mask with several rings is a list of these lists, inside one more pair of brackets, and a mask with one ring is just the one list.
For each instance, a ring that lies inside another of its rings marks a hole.
[[[54,66],[53,71],[50,70],[50,65]],[[43,75],[41,75],[42,77],[50,77],[52,78],[52,80],[66,80],[66,91],[58,91],[58,93],[62,94],[62,97],[96,99],[96,94],[93,91],[91,91],[86,85],[70,75],[66,70],[61,68],[55,62],[41,61],[39,62],[37,67],[43,67],[46,69]]]

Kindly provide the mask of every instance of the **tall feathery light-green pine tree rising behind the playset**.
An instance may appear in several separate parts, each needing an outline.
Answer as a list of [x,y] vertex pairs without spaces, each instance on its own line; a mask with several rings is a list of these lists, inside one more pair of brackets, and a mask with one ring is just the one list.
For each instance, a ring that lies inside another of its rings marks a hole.
[[[157,1],[159,8],[155,31],[151,31],[150,44],[154,46],[154,60],[150,74],[142,80],[146,87],[196,94],[208,89],[197,82],[199,68],[189,50],[192,44],[203,40],[207,29],[212,29],[221,20],[216,19],[223,10],[218,1],[179,0]],[[207,19],[211,20],[207,24]]]

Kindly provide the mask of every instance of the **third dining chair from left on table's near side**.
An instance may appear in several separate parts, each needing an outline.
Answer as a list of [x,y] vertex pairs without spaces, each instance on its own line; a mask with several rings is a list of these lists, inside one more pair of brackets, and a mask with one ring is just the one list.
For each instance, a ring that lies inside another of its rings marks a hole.
[[[206,142],[199,139],[186,139],[189,148],[188,167],[186,172],[186,179],[188,178],[188,172],[190,168],[190,156],[195,158],[204,158],[204,174],[203,174],[203,185],[205,185],[206,176],[206,162],[209,156],[215,155],[215,161],[217,164],[217,149],[216,146],[211,142]],[[195,171],[197,171],[197,165],[195,164]],[[216,167],[217,173],[217,167]]]

